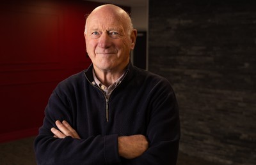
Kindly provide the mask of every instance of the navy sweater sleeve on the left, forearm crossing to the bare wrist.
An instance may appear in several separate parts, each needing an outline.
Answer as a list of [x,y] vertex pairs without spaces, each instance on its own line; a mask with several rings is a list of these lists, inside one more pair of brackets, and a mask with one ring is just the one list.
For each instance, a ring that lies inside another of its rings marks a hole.
[[44,124],[40,127],[35,139],[37,164],[113,164],[120,162],[117,134],[105,136],[99,134],[84,139],[74,139],[70,136],[64,139],[53,137],[51,127],[56,127],[56,120],[65,119],[72,123],[68,99],[60,97],[58,92],[54,90],[49,99],[45,108]]

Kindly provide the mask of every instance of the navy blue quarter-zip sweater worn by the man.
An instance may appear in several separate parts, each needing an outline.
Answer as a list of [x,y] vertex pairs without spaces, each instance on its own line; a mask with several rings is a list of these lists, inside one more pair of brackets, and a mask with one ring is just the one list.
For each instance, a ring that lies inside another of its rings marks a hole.
[[[109,100],[92,82],[91,65],[52,92],[35,139],[38,164],[176,164],[179,110],[168,80],[129,64]],[[67,120],[81,139],[53,138],[56,120]],[[147,136],[150,147],[136,159],[124,159],[118,155],[118,136],[133,134]]]

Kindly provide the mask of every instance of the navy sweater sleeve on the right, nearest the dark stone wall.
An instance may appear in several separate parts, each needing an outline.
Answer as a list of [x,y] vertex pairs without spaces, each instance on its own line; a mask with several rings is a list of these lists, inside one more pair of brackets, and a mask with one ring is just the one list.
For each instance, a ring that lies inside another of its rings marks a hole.
[[175,94],[168,83],[159,84],[152,91],[152,110],[147,128],[150,147],[136,159],[122,160],[125,164],[175,165],[177,162],[180,120]]

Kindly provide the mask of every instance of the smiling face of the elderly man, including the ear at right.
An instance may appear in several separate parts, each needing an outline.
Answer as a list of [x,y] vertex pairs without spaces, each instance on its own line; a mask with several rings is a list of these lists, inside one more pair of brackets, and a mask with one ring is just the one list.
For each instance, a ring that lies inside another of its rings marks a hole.
[[95,69],[120,71],[129,63],[136,31],[127,34],[127,24],[108,11],[93,13],[87,20],[86,50]]

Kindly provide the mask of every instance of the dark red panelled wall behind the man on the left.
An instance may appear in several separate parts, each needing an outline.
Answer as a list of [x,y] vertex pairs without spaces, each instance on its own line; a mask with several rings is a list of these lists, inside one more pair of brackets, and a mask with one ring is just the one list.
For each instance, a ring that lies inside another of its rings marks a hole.
[[38,133],[57,83],[91,63],[84,15],[99,3],[32,1],[0,7],[0,142]]

